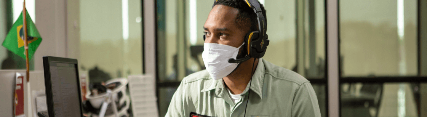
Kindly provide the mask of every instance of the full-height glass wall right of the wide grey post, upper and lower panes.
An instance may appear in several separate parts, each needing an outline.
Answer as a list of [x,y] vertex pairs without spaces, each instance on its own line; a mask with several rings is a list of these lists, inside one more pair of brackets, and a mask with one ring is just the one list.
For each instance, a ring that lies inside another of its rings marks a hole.
[[341,116],[425,113],[427,80],[412,80],[423,79],[418,73],[418,42],[424,40],[417,33],[418,2],[339,0]]

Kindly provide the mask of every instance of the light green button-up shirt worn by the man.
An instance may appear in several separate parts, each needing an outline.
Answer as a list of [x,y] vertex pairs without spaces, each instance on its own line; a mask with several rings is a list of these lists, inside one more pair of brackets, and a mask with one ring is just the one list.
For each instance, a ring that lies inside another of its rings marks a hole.
[[[316,93],[303,76],[260,59],[252,76],[247,117],[320,117]],[[166,117],[243,117],[249,85],[236,104],[222,79],[213,80],[206,70],[190,74],[179,85]]]

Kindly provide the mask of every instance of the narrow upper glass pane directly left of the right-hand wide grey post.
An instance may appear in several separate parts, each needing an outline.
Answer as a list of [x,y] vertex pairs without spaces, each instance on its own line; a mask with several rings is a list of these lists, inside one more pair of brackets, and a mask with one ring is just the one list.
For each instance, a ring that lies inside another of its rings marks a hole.
[[295,63],[298,64],[292,70],[308,79],[325,79],[325,3],[296,1]]

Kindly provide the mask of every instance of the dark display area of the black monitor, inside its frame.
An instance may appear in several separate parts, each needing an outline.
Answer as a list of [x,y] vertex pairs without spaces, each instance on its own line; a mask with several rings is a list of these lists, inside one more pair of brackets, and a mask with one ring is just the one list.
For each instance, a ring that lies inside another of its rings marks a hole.
[[49,61],[49,67],[55,116],[81,116],[76,64]]

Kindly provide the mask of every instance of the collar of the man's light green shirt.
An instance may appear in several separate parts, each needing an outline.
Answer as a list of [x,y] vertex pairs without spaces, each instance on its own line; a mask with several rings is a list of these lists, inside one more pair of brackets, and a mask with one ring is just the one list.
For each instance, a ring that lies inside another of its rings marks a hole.
[[[263,99],[262,89],[263,89],[263,83],[264,83],[264,76],[265,76],[265,66],[263,63],[263,59],[259,59],[257,68],[254,72],[254,75],[252,76],[251,90],[255,92],[255,94],[257,94],[260,97],[260,99]],[[211,91],[215,89],[215,94],[218,97],[222,97],[222,94],[224,92],[227,92],[225,90],[224,81],[222,79],[218,79],[218,80],[210,79],[210,80],[207,80],[205,84],[206,85],[201,92]],[[245,91],[243,91],[241,95],[246,94],[248,90],[249,90],[249,85],[246,86]]]

